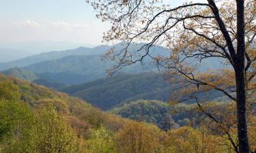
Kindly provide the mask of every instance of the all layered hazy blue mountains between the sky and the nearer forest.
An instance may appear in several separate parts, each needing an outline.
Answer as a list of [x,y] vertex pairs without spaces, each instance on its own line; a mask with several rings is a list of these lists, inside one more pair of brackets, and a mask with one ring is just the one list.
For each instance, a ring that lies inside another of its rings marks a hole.
[[[142,45],[132,44],[129,50],[136,52]],[[141,63],[130,65],[109,78],[106,69],[111,68],[114,62],[102,60],[102,55],[113,47],[118,51],[124,45],[120,43],[115,46],[45,52],[0,63],[0,70],[6,75],[80,97],[101,109],[111,109],[138,99],[168,101],[173,89],[162,76],[155,73],[158,70],[156,65],[152,65],[151,58],[145,58],[143,66]],[[154,56],[168,56],[169,52],[170,50],[160,46],[150,50],[150,54]],[[189,62],[195,63],[193,60]],[[220,61],[215,60],[199,64],[199,71],[223,67]],[[210,99],[219,96],[219,93],[214,92]]]

